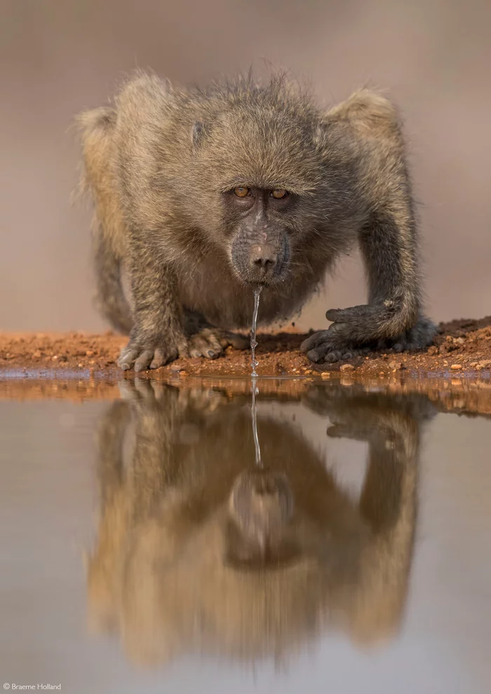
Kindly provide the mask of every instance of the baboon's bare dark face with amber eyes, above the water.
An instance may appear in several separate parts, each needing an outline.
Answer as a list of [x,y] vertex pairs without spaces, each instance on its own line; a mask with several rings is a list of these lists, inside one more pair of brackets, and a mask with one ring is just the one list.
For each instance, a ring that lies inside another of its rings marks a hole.
[[281,281],[288,270],[290,239],[285,216],[295,205],[290,191],[264,190],[246,184],[224,193],[234,218],[231,262],[241,280],[253,285]]

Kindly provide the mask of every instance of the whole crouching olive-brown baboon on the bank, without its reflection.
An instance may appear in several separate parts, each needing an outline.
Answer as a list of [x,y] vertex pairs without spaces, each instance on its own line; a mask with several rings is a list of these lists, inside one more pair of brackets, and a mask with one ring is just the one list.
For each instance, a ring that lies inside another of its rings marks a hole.
[[356,241],[368,304],[328,311],[307,356],[431,342],[401,121],[384,97],[359,90],[322,111],[281,77],[202,91],[137,74],[79,120],[98,298],[130,330],[123,369],[216,357],[234,342],[224,331],[250,325],[255,285],[260,322],[287,318]]

